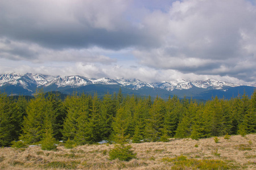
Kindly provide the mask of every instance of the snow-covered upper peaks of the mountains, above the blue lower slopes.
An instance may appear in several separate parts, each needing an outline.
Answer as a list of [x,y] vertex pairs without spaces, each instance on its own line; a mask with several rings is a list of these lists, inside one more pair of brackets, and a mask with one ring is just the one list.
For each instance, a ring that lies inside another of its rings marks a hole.
[[192,87],[198,88],[211,88],[220,90],[224,87],[237,87],[238,85],[223,82],[213,79],[208,80],[196,80],[196,81],[188,81],[188,80],[181,80],[181,81],[172,81],[172,82],[160,82],[160,83],[147,83],[142,82],[138,79],[118,79],[113,80],[110,78],[100,78],[100,79],[93,79],[93,78],[86,78],[80,75],[72,75],[72,76],[50,76],[50,75],[42,75],[42,74],[1,74],[0,75],[0,87],[5,86],[6,84],[11,84],[15,86],[22,86],[23,88],[27,89],[32,84],[36,87],[39,86],[51,86],[53,84],[56,87],[81,87],[87,86],[89,84],[104,84],[104,85],[120,85],[127,88],[131,88],[134,90],[138,90],[142,87],[148,88],[162,88],[164,90],[172,91],[172,90],[188,90]]

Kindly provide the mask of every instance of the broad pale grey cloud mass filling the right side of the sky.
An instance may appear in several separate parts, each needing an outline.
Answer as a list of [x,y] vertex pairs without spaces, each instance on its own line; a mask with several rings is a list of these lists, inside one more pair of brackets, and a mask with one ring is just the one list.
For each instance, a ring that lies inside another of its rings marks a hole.
[[[255,80],[256,7],[247,1],[176,1],[144,21],[162,37],[134,56],[156,69]],[[161,32],[162,30],[162,32]],[[163,34],[164,33],[164,34]]]

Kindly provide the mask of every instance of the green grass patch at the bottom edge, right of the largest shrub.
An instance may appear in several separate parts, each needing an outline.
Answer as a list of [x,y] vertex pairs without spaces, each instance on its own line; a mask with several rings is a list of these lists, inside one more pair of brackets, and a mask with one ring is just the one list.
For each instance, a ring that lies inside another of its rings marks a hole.
[[172,169],[232,169],[233,165],[222,160],[198,160],[198,159],[187,159],[187,156],[176,156],[176,158],[163,158],[163,162],[174,164]]

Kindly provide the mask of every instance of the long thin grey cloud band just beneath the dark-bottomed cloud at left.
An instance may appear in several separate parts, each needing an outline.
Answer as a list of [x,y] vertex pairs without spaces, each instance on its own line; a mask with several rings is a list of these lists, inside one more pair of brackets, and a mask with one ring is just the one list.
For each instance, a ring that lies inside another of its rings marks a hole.
[[[100,50],[100,49],[98,49]],[[101,50],[103,52],[104,50]],[[10,41],[0,39],[0,58],[44,62],[93,62],[110,64],[115,59],[104,56],[92,49],[49,49],[32,42]]]

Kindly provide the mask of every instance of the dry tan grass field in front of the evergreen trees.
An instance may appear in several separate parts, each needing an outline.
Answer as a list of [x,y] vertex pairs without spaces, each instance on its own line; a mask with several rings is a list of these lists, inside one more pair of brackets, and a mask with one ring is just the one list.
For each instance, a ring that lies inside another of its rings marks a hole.
[[55,151],[39,146],[0,148],[0,169],[256,169],[256,134],[170,142],[133,143],[137,159],[109,160],[114,145],[85,145]]

